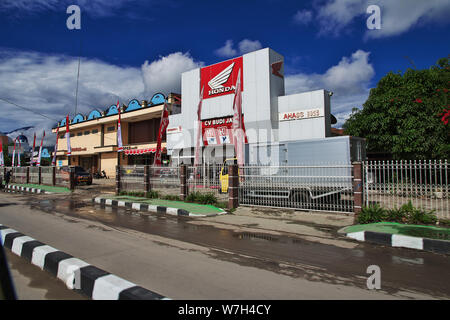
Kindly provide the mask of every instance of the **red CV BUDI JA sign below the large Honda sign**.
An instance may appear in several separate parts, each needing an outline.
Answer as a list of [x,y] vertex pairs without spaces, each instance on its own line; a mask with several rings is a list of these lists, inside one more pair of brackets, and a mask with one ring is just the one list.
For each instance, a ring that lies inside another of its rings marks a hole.
[[[233,125],[233,117],[203,120],[202,121],[203,145],[208,146],[208,145],[232,143],[233,142],[232,125]],[[245,136],[245,143],[248,143],[247,136]]]

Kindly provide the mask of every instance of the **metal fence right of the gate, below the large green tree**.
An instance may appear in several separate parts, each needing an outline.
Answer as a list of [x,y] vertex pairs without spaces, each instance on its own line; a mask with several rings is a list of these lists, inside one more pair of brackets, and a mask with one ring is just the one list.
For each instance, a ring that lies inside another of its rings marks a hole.
[[367,161],[363,163],[365,205],[388,209],[411,203],[450,218],[449,165],[445,161]]

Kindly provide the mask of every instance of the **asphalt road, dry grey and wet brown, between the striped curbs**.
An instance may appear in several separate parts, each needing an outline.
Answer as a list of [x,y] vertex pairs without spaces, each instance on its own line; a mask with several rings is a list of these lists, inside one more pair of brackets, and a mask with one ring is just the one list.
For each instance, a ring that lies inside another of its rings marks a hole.
[[[0,223],[172,299],[450,297],[448,256],[236,233],[58,197],[0,193]],[[381,290],[366,287],[373,264]]]

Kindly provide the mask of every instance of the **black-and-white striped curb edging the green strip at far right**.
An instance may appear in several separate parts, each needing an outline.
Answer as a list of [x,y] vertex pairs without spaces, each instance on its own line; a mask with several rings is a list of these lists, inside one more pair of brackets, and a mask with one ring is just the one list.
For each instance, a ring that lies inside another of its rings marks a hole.
[[347,233],[346,236],[358,241],[373,242],[390,247],[402,247],[450,254],[450,241],[447,240],[419,238],[373,231],[350,232]]

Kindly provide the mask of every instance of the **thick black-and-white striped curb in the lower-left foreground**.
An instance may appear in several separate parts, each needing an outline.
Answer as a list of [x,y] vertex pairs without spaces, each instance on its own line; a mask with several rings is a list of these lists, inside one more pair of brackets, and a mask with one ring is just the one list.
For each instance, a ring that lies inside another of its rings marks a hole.
[[93,300],[170,300],[0,224],[1,243]]

